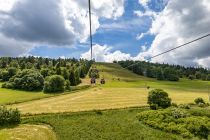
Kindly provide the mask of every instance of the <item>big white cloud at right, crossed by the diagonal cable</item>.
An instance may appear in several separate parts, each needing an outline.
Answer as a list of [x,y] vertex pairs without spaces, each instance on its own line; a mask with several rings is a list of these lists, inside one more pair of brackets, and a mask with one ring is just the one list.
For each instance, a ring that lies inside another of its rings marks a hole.
[[[140,56],[153,56],[209,33],[209,6],[210,3],[207,3],[207,0],[169,1],[165,9],[153,20],[149,32],[156,37],[151,48]],[[153,61],[207,66],[210,57],[209,50],[209,38],[206,38],[157,57]]]

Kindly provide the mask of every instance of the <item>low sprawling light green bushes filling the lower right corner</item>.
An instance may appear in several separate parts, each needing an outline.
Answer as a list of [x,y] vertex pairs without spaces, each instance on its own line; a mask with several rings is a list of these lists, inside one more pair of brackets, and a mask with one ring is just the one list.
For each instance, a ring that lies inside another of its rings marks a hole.
[[139,121],[166,132],[180,134],[185,138],[199,137],[207,139],[210,134],[210,119],[192,116],[183,109],[171,108],[151,110],[138,114]]

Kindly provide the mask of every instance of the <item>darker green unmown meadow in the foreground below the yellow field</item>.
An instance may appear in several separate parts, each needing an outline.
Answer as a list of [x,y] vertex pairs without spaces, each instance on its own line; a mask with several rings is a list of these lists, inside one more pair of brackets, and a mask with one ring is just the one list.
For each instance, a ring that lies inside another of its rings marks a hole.
[[181,140],[182,137],[143,125],[136,118],[145,109],[120,109],[25,118],[23,123],[46,123],[54,128],[58,140]]

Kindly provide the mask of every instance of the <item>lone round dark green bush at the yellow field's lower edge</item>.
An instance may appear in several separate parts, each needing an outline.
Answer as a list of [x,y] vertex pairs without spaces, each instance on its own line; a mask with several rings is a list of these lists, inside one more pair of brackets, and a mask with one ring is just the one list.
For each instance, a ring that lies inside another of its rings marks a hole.
[[162,89],[155,89],[149,92],[148,104],[151,109],[167,108],[171,106],[171,99],[168,97],[168,93]]

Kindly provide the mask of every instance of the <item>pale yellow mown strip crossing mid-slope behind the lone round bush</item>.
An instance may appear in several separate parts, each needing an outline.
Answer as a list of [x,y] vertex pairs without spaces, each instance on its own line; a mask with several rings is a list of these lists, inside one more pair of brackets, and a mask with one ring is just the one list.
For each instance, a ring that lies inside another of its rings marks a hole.
[[[10,107],[18,108],[24,114],[40,114],[145,106],[147,105],[148,91],[143,88],[93,88]],[[177,92],[176,90],[167,90],[167,92],[169,92],[172,101],[179,104],[192,103],[197,97],[208,99],[207,93]]]

